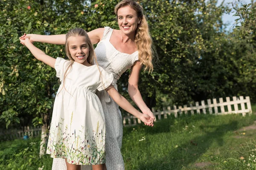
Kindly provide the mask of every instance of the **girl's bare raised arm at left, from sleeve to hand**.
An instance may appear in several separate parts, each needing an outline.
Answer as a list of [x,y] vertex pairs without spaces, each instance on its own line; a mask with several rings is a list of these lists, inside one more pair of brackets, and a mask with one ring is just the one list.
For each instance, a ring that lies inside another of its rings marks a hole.
[[33,54],[33,56],[35,56],[36,59],[54,68],[56,59],[44,54],[44,52],[36,48],[28,38],[25,40],[20,38],[20,43],[26,45],[26,47],[29,48],[29,51]]

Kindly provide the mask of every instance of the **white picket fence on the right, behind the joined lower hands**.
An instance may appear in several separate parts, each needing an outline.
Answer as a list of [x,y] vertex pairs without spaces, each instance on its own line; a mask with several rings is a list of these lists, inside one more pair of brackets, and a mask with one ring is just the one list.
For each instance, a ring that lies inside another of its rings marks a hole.
[[[232,101],[230,101],[230,97],[226,97],[226,102],[223,101],[223,98],[219,98],[218,102],[217,99],[207,99],[207,105],[205,104],[205,101],[201,101],[201,105],[199,105],[199,102],[195,102],[195,106],[192,104],[182,106],[173,106],[163,108],[163,111],[157,110],[155,111],[154,108],[152,108],[152,112],[155,116],[155,121],[158,121],[160,119],[166,119],[167,115],[174,115],[175,118],[178,117],[178,115],[194,115],[197,114],[214,114],[214,115],[221,115],[221,114],[230,114],[230,113],[241,113],[243,116],[246,115],[246,113],[251,114],[252,108],[250,104],[250,97],[246,96],[244,99],[244,96],[233,96]],[[124,126],[132,126],[137,125],[137,123],[141,123],[140,119],[137,119],[135,116],[132,116],[128,113],[128,116],[124,116],[123,118],[123,125]]]

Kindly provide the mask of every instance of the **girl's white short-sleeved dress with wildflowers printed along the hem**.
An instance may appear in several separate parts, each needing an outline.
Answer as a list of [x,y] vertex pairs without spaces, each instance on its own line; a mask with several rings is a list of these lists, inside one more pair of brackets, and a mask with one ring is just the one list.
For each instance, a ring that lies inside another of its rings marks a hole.
[[113,75],[97,65],[74,62],[63,81],[68,65],[70,61],[56,59],[61,85],[53,106],[47,154],[66,158],[70,164],[105,164],[105,117],[95,93],[111,85]]

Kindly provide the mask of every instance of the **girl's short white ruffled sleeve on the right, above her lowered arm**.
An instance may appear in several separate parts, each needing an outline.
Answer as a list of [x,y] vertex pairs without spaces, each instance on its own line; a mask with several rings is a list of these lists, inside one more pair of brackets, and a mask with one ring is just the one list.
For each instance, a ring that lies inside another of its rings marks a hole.
[[108,73],[107,71],[105,71],[103,68],[100,69],[101,71],[101,77],[100,77],[100,83],[98,86],[98,91],[102,91],[106,88],[108,88],[108,86],[111,85],[111,83],[113,82],[113,74]]

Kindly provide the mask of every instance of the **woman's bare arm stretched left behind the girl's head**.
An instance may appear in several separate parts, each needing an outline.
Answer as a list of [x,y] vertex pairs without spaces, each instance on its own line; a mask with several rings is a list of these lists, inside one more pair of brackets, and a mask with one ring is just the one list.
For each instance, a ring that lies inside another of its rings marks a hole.
[[[97,28],[88,32],[88,36],[93,44],[97,44],[103,36],[105,28]],[[38,34],[24,34],[20,37],[22,40],[29,38],[30,42],[46,42],[49,44],[64,45],[66,42],[66,34],[60,35],[38,35]]]

